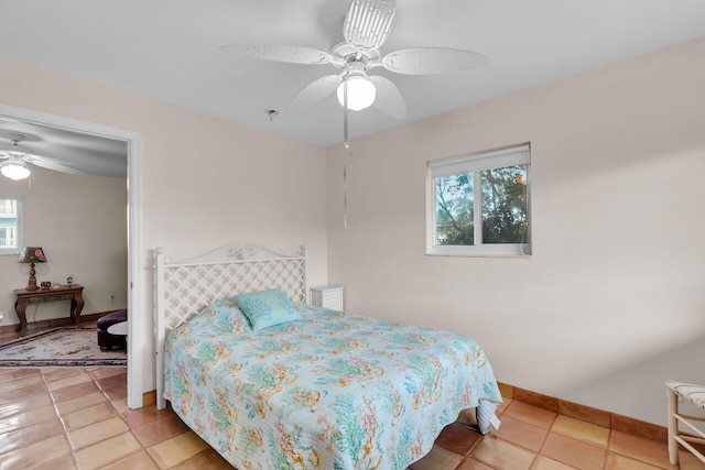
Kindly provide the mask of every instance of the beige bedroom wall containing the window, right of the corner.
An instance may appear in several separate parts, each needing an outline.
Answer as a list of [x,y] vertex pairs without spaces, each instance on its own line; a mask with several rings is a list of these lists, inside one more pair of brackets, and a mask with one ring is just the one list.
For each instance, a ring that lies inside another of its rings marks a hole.
[[[471,74],[468,86],[471,87]],[[705,383],[705,39],[328,150],[350,311],[474,336],[497,378],[665,424]],[[533,258],[432,258],[425,163],[530,141]]]

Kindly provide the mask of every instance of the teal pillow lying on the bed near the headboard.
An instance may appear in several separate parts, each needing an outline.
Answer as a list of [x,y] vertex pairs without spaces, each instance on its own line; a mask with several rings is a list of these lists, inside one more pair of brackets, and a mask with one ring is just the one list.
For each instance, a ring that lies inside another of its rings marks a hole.
[[232,298],[238,303],[256,331],[301,319],[299,309],[278,288],[239,294]]

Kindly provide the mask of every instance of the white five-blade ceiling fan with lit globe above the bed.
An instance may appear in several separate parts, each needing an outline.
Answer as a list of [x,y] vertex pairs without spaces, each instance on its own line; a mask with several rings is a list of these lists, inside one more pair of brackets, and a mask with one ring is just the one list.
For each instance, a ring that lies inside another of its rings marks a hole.
[[289,109],[311,106],[337,90],[338,101],[346,109],[360,110],[375,105],[383,113],[403,119],[406,105],[399,88],[388,78],[368,75],[383,67],[404,75],[445,74],[480,67],[486,56],[465,50],[445,47],[411,47],[383,53],[397,10],[395,0],[352,0],[343,23],[344,41],[325,52],[292,45],[231,44],[223,51],[239,56],[293,64],[332,64],[340,72],[318,78],[302,89],[289,103]]

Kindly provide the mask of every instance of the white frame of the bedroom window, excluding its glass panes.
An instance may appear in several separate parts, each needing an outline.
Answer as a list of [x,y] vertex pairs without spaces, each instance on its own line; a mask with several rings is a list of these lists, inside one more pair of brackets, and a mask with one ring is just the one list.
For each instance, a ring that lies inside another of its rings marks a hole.
[[[482,243],[482,200],[480,172],[512,165],[527,165],[527,241]],[[426,162],[426,254],[437,256],[531,256],[531,144],[522,143],[449,159]],[[475,177],[475,240],[473,245],[436,244],[436,190],[438,177],[473,173]]]

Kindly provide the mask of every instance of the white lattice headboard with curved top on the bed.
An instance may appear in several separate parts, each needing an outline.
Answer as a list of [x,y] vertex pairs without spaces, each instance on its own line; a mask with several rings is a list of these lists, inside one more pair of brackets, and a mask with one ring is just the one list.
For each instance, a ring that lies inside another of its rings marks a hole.
[[158,248],[154,264],[156,405],[162,397],[164,338],[215,300],[253,291],[280,288],[292,302],[308,303],[306,247],[288,255],[257,244],[228,244],[172,262]]

